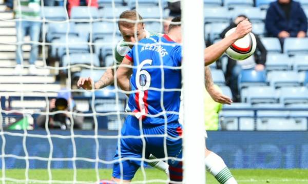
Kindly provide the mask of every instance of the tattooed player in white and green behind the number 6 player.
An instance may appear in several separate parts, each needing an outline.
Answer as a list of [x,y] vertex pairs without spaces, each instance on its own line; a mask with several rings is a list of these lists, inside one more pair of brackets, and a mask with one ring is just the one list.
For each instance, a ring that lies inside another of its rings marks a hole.
[[[137,24],[137,27],[134,23],[128,23],[125,21],[119,21],[119,31],[122,34],[123,39],[117,44],[117,47],[114,49],[115,56],[115,65],[120,65],[124,56],[131,50],[132,46],[128,43],[136,43],[137,40],[141,40],[143,38],[149,38],[150,36],[162,36],[162,34],[147,31],[145,29],[145,24],[142,22],[142,16],[136,10],[127,10],[121,13],[121,19],[130,19],[131,21],[136,21],[137,17],[141,21]],[[136,33],[136,35],[135,35]],[[81,77],[78,81],[78,87],[82,87],[84,89],[100,89],[104,88],[113,83],[114,73],[113,68],[108,68],[106,72],[102,75],[100,80],[93,83],[90,77]],[[211,73],[209,67],[205,67],[205,88],[210,96],[221,104],[230,104],[232,100],[219,92],[216,88],[214,88],[213,79],[211,78]],[[128,108],[127,108],[128,109]],[[150,156],[150,159],[156,159],[154,156]],[[159,170],[164,171],[168,175],[168,165],[159,160],[159,161],[149,161],[147,163],[149,166],[157,168]]]

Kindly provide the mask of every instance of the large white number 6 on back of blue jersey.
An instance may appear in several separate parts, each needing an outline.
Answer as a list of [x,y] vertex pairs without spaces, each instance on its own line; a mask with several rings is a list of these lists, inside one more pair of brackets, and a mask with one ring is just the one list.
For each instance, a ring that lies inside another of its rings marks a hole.
[[137,67],[136,73],[136,85],[137,88],[141,91],[146,91],[151,85],[151,75],[146,70],[141,70],[142,67],[146,64],[152,65],[151,59],[143,60],[140,65]]

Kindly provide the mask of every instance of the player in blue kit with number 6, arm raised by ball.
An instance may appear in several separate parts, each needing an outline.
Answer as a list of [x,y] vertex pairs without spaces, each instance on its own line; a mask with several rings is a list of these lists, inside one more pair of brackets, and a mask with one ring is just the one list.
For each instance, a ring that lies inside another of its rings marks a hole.
[[[180,18],[172,22],[180,22]],[[245,20],[233,34],[206,48],[205,66],[215,62],[230,45],[251,30],[251,23]],[[150,153],[157,158],[182,158],[182,126],[178,122],[181,69],[177,68],[181,66],[182,60],[182,48],[177,45],[181,41],[180,25],[171,25],[168,35],[142,39],[128,52],[117,71],[119,86],[132,92],[128,105],[134,115],[126,118],[122,128],[121,152],[117,149],[114,157],[118,160],[114,163],[112,173],[115,182],[130,182],[141,165],[141,158],[148,158]],[[168,137],[164,137],[165,133]],[[207,159],[210,151],[207,150],[205,156]],[[183,179],[182,162],[178,159],[168,160],[171,181]],[[213,166],[208,169],[216,168]],[[219,179],[223,179],[219,182],[234,183],[231,180],[228,182],[228,175],[229,171],[220,173]]]

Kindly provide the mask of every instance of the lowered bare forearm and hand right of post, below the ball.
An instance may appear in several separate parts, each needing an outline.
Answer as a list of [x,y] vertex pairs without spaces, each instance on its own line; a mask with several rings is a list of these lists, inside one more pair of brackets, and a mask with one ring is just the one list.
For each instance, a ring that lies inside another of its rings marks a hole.
[[209,66],[206,66],[204,69],[204,79],[205,79],[205,88],[208,94],[211,98],[214,99],[214,101],[220,103],[220,104],[228,104],[230,105],[232,103],[232,99],[230,99],[228,96],[223,95],[221,92],[219,92],[215,87],[213,83],[213,78],[211,77]]

